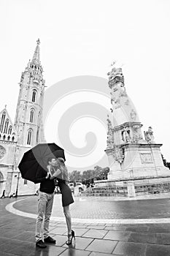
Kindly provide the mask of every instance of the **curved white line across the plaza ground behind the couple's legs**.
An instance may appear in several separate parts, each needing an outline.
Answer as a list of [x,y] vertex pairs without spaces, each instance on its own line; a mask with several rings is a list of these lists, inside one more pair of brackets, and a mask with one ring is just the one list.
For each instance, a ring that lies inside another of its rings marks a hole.
[[[36,214],[30,214],[28,212],[17,210],[13,207],[15,203],[18,203],[22,200],[18,200],[17,202],[9,203],[5,208],[7,211],[12,214],[16,214],[22,217],[28,217],[32,219],[36,219]],[[52,222],[66,222],[65,217],[50,217]],[[106,223],[106,224],[155,224],[155,223],[170,223],[170,218],[160,218],[160,219],[80,219],[80,218],[72,218],[72,222],[80,222],[80,223]]]

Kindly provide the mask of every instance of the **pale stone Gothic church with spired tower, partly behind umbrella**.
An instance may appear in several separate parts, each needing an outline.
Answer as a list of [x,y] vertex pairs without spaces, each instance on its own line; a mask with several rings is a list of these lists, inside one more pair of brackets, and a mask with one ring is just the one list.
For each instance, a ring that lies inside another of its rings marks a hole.
[[20,78],[20,92],[12,124],[7,108],[0,112],[0,196],[33,195],[37,184],[20,177],[18,164],[23,154],[38,143],[45,142],[42,125],[45,80],[39,60],[39,39],[34,56]]

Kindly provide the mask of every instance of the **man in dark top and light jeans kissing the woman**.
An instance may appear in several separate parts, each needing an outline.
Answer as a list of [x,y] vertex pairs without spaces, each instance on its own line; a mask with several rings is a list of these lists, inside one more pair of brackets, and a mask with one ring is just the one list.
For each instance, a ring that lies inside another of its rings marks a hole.
[[[40,248],[47,247],[45,242],[55,244],[55,239],[49,236],[49,223],[53,208],[55,190],[54,180],[50,180],[50,170],[55,166],[55,162],[56,159],[54,157],[47,159],[47,176],[43,178],[37,178],[35,182],[40,182],[38,216],[36,218],[36,246],[39,246]],[[44,233],[42,238],[42,223],[44,218]]]

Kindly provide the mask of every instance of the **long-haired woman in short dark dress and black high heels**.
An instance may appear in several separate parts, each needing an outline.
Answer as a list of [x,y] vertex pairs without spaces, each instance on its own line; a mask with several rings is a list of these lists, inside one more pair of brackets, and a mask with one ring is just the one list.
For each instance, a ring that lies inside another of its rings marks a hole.
[[62,195],[63,213],[66,217],[66,225],[68,229],[68,240],[66,241],[66,244],[72,244],[72,238],[75,240],[75,236],[74,230],[72,230],[72,219],[69,211],[69,205],[74,203],[74,200],[72,197],[72,191],[68,186],[68,171],[62,157],[58,157],[56,160],[55,170],[55,173],[50,177],[50,179],[57,178],[58,180],[58,187],[60,188]]

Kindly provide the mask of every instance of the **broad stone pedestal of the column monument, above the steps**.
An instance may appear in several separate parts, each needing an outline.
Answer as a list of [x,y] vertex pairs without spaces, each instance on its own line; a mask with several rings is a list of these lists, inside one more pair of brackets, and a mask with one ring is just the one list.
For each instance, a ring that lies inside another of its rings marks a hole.
[[161,146],[156,143],[125,143],[121,146],[124,152],[122,164],[117,162],[117,167],[114,155],[112,158],[109,155],[108,180],[170,176],[169,168],[163,165]]

